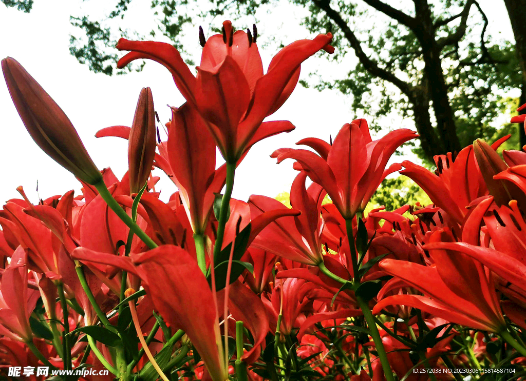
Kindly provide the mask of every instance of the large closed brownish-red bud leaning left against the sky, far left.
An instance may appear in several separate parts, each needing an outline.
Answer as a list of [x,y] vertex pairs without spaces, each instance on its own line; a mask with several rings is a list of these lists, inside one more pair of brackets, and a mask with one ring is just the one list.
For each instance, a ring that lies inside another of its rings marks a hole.
[[2,71],[18,114],[42,151],[82,181],[101,181],[73,124],[42,86],[13,58],[2,60]]

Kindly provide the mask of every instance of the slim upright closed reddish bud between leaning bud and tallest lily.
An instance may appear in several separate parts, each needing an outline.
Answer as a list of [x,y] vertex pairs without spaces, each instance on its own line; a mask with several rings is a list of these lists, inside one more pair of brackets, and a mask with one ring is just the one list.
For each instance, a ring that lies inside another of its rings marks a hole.
[[149,87],[140,91],[128,143],[130,192],[138,193],[148,181],[155,157],[155,111]]

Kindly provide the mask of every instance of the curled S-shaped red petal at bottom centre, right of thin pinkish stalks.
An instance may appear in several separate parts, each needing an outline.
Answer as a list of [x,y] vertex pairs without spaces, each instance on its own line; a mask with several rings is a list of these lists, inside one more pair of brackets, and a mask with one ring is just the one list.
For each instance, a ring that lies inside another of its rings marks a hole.
[[254,346],[242,357],[247,364],[252,364],[258,359],[269,330],[267,310],[261,299],[240,281],[230,284],[228,295],[230,313],[241,320],[254,337]]

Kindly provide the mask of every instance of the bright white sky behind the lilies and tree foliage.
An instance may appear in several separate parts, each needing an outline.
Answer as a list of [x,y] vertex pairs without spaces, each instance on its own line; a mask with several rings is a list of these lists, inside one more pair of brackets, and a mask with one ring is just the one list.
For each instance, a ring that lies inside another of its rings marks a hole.
[[[148,13],[150,2],[144,1],[136,6],[134,4],[137,4],[137,1],[139,0],[132,3],[130,14],[133,14],[137,25],[148,25],[148,28],[151,28],[152,18],[151,13]],[[10,56],[21,62],[66,112],[95,164],[100,169],[112,167],[117,177],[121,177],[128,165],[126,142],[110,137],[96,139],[95,132],[110,125],[130,125],[138,94],[143,87],[149,86],[152,89],[156,110],[163,122],[170,117],[169,109],[164,105],[177,106],[182,104],[184,99],[178,93],[168,71],[154,62],[148,62],[143,72],[108,77],[90,72],[87,66],[80,65],[69,54],[69,34],[72,32],[69,15],[82,15],[86,10],[92,16],[97,10],[104,15],[107,12],[101,7],[107,6],[108,3],[114,2],[36,0],[29,14],[0,4],[0,58]],[[494,36],[500,34],[502,38],[513,40],[503,1],[481,0],[480,4],[490,20],[489,33]],[[144,8],[141,9],[140,6]],[[298,24],[298,17],[301,16],[296,12],[294,7],[286,4],[267,9],[264,14],[257,15],[260,20],[260,34],[270,35],[279,31],[281,36],[286,36],[285,44],[296,39],[312,38],[313,36],[302,28],[292,26]],[[206,24],[201,24],[207,30]],[[247,21],[247,24],[251,25],[252,22]],[[197,27],[195,29],[196,35],[189,40],[189,44],[195,45],[194,61],[199,62]],[[206,35],[209,36],[210,33]],[[274,47],[260,47],[260,52],[264,67],[267,67],[277,50]],[[302,65],[301,78],[306,79],[309,72],[317,70],[339,76],[347,72],[353,62],[356,62],[356,58],[349,57],[346,65],[338,65],[318,54]],[[318,92],[298,85],[284,107],[268,118],[290,120],[296,125],[296,130],[271,137],[252,147],[236,172],[233,196],[246,200],[251,194],[274,197],[288,191],[296,174],[291,168],[292,161],[277,165],[269,154],[280,147],[294,146],[295,142],[304,137],[316,136],[328,140],[329,134],[335,137],[341,125],[352,119],[371,119],[368,115],[357,115],[350,105],[351,100],[336,91]],[[410,120],[402,121],[396,117],[379,122],[393,128],[413,128]],[[387,131],[382,131],[380,135],[385,133]],[[28,197],[36,202],[37,179],[42,198],[64,194],[69,189],[76,189],[78,193],[80,186],[74,176],[39,150],[25,130],[3,78],[0,80],[0,143],[0,203],[9,198],[18,198],[18,185],[22,185]],[[396,156],[391,162],[405,158],[412,157]],[[156,172],[161,176],[161,198],[166,200],[175,192],[175,185],[162,172]]]

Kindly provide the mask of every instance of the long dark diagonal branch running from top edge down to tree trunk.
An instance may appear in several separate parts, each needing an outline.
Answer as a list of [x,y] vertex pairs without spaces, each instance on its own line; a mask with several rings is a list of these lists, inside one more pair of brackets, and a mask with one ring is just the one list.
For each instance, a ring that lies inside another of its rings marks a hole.
[[336,10],[330,7],[328,0],[313,1],[325,11],[327,16],[329,16],[329,18],[333,20],[333,22],[335,22],[336,25],[340,27],[340,29],[343,31],[343,35],[345,36],[345,38],[347,38],[352,49],[355,51],[356,56],[360,60],[360,63],[368,72],[370,72],[375,77],[391,82],[396,87],[398,87],[400,91],[402,91],[404,94],[406,94],[409,97],[412,97],[411,86],[409,85],[409,83],[402,81],[394,73],[381,68],[380,66],[378,66],[378,62],[372,60],[367,56],[365,51],[363,51],[360,45],[360,41],[358,40],[356,35],[353,33],[349,25],[347,25],[346,21],[341,17],[341,15]]

